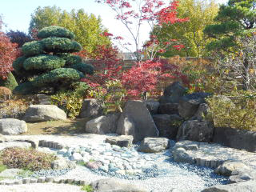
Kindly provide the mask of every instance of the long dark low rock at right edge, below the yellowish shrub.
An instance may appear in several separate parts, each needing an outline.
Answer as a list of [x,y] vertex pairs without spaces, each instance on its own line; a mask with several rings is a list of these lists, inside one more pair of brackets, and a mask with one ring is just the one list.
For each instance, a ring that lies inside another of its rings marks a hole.
[[215,127],[213,142],[238,150],[256,152],[256,133],[230,127]]

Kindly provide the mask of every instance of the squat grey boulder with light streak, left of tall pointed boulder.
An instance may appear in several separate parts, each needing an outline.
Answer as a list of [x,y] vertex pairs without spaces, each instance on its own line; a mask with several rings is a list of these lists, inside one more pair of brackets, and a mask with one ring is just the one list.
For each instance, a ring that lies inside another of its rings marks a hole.
[[119,114],[107,114],[86,122],[86,132],[90,134],[110,134],[117,130]]

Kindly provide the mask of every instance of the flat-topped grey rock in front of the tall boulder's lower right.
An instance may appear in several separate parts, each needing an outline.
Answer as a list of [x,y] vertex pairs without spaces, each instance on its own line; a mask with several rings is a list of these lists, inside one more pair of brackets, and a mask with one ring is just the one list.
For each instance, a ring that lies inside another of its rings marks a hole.
[[169,148],[168,138],[144,138],[138,151],[145,153],[158,153]]

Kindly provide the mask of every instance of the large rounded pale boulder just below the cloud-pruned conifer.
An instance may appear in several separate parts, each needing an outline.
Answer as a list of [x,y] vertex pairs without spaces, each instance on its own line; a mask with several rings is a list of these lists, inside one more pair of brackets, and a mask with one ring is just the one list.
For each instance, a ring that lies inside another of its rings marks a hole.
[[54,105],[31,105],[26,110],[24,120],[26,122],[66,120],[66,113]]

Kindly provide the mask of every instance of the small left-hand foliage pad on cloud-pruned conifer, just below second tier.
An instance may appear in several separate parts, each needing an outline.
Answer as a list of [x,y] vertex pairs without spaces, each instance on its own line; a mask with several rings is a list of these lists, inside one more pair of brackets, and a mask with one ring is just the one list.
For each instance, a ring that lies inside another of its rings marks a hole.
[[42,42],[26,42],[23,46],[22,46],[22,53],[26,56],[34,56],[36,54],[43,54],[43,45]]

